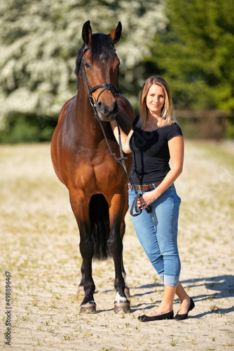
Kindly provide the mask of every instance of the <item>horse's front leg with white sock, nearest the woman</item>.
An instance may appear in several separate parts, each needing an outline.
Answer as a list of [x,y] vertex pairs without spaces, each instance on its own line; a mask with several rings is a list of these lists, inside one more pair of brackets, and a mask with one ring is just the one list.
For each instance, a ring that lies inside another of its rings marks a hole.
[[130,302],[125,295],[125,281],[122,274],[123,265],[123,242],[121,238],[121,219],[123,216],[124,194],[115,194],[111,200],[109,209],[110,234],[107,241],[109,252],[113,257],[116,277],[114,287],[116,289],[116,300],[114,312],[130,312]]

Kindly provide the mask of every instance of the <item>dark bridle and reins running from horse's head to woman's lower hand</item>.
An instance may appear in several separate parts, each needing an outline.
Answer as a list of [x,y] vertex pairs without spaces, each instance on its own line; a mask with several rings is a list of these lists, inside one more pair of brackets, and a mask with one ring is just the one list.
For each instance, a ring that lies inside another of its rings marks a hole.
[[[88,49],[90,48],[84,48],[83,50],[83,54],[85,53],[85,51],[87,51]],[[95,114],[95,117],[97,119],[97,121],[99,121],[99,125],[101,126],[101,129],[102,129],[102,133],[104,135],[104,138],[106,140],[106,145],[108,146],[109,150],[110,150],[110,155],[113,156],[114,159],[116,159],[116,161],[121,164],[121,166],[123,166],[123,169],[125,170],[125,173],[127,174],[128,176],[128,180],[132,186],[132,189],[134,190],[135,194],[136,194],[136,197],[134,199],[134,201],[132,202],[132,206],[130,208],[130,214],[131,216],[138,216],[140,213],[142,213],[142,208],[139,208],[137,206],[137,201],[138,201],[138,198],[142,196],[142,194],[139,194],[137,192],[137,189],[135,187],[135,184],[132,182],[132,178],[130,176],[130,174],[128,173],[128,170],[126,168],[126,164],[125,164],[125,160],[128,159],[128,157],[124,157],[124,154],[123,154],[123,147],[122,147],[122,142],[121,142],[121,130],[120,130],[120,127],[119,127],[119,124],[118,124],[118,119],[117,119],[117,126],[118,126],[118,145],[119,145],[119,150],[120,150],[120,154],[121,154],[121,157],[116,157],[116,154],[114,152],[112,152],[111,150],[111,147],[109,145],[109,141],[108,139],[106,138],[106,133],[104,131],[104,128],[102,126],[102,122],[99,120],[99,117],[98,117],[98,113],[97,113],[97,102],[98,102],[98,99],[99,99],[99,96],[105,91],[105,90],[109,90],[111,91],[111,93],[114,95],[116,101],[118,100],[118,86],[116,86],[115,84],[110,84],[110,83],[104,83],[104,84],[99,84],[97,86],[94,86],[93,88],[91,88],[89,82],[88,82],[88,78],[86,76],[86,73],[85,73],[85,65],[84,65],[84,59],[82,58],[81,60],[81,69],[82,69],[82,74],[83,74],[83,77],[85,79],[85,85],[86,85],[86,88],[87,88],[87,91],[88,91],[88,98],[90,99],[90,105],[92,106],[92,109],[94,111],[94,114]],[[92,93],[94,91],[96,91],[98,88],[103,88],[102,91],[100,91],[99,95],[97,96],[97,100],[95,100],[95,98],[92,96]],[[135,213],[133,213],[133,209],[135,208]]]

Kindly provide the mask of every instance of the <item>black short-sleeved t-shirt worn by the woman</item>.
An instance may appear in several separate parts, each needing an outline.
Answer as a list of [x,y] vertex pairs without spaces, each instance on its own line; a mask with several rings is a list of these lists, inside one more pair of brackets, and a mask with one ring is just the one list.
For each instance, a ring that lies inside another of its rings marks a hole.
[[132,123],[130,138],[132,151],[131,178],[136,185],[161,182],[170,171],[168,141],[176,135],[183,135],[177,123],[158,128],[156,131],[142,131],[137,128],[139,117]]

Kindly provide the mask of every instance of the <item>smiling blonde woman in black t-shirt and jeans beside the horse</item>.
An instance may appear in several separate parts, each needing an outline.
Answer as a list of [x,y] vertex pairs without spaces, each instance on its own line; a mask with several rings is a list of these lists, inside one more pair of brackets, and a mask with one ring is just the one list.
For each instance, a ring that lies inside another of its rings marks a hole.
[[[160,77],[146,79],[140,97],[140,115],[126,135],[121,130],[121,142],[125,153],[132,152],[131,178],[137,191],[142,194],[137,206],[142,211],[132,216],[137,237],[153,267],[163,279],[163,300],[141,317],[142,322],[173,319],[173,301],[176,293],[181,301],[174,319],[182,320],[193,310],[193,300],[179,282],[180,260],[177,248],[177,224],[179,205],[174,181],[179,177],[184,161],[184,140],[181,128],[172,118],[173,105],[170,88]],[[111,121],[118,141],[116,121]],[[169,166],[171,159],[172,168]],[[129,185],[129,206],[135,192]]]

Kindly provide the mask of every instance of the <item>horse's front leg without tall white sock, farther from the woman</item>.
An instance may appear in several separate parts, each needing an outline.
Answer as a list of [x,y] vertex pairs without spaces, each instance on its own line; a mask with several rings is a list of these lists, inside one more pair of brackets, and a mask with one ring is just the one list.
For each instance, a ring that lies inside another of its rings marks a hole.
[[88,201],[84,197],[78,196],[77,193],[72,194],[72,192],[70,192],[70,202],[80,232],[80,251],[83,258],[85,275],[83,286],[85,296],[81,303],[81,313],[92,313],[96,312],[96,303],[93,298],[95,284],[92,279],[92,256],[94,253],[94,244],[90,235]]

